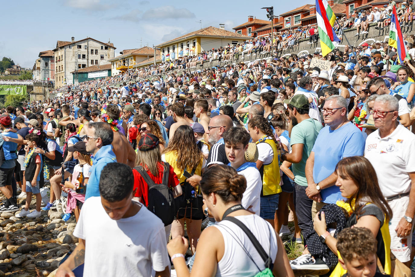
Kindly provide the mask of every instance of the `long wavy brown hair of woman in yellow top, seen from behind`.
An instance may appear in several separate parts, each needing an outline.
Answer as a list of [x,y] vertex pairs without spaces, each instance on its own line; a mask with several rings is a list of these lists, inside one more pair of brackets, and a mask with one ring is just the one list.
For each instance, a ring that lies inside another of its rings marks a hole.
[[177,167],[180,170],[192,170],[203,159],[203,153],[196,145],[193,129],[188,125],[181,125],[174,132],[168,147],[163,153],[175,152],[177,154]]

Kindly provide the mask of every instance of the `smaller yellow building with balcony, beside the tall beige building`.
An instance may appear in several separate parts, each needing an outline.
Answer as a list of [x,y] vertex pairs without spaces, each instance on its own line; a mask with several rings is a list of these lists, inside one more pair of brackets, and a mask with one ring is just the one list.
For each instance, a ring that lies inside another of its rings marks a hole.
[[[117,75],[120,71],[135,68],[136,65],[142,61],[146,61],[154,57],[154,49],[148,46],[144,46],[138,49],[126,49],[120,52],[120,56],[117,56],[108,61],[111,62],[111,75]],[[156,50],[156,56],[160,55],[160,50]]]

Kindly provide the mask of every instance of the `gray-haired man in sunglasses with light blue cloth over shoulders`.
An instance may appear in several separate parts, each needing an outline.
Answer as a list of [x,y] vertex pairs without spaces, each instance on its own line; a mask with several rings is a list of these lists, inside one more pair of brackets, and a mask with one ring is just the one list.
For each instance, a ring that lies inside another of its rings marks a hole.
[[109,124],[105,122],[89,123],[85,127],[86,135],[82,137],[85,142],[85,149],[88,153],[93,154],[91,176],[88,179],[85,200],[91,196],[100,196],[99,184],[100,176],[105,165],[111,162],[117,162],[114,152],[112,151],[112,140],[114,133]]

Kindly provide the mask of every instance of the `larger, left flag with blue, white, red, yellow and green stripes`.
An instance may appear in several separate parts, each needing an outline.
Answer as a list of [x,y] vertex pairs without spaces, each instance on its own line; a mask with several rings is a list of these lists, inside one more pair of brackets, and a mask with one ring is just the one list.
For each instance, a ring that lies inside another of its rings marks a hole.
[[327,0],[315,0],[315,10],[317,15],[318,34],[323,57],[329,54],[340,42],[333,26],[336,15]]

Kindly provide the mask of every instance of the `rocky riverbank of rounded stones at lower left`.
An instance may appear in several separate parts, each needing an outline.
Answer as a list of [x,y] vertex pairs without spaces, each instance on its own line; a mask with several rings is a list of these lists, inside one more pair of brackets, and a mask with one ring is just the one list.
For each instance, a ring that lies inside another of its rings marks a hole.
[[[32,199],[31,210],[35,203]],[[39,218],[17,218],[18,213],[0,214],[0,277],[53,277],[59,261],[78,244],[76,223],[65,223],[53,210]]]

